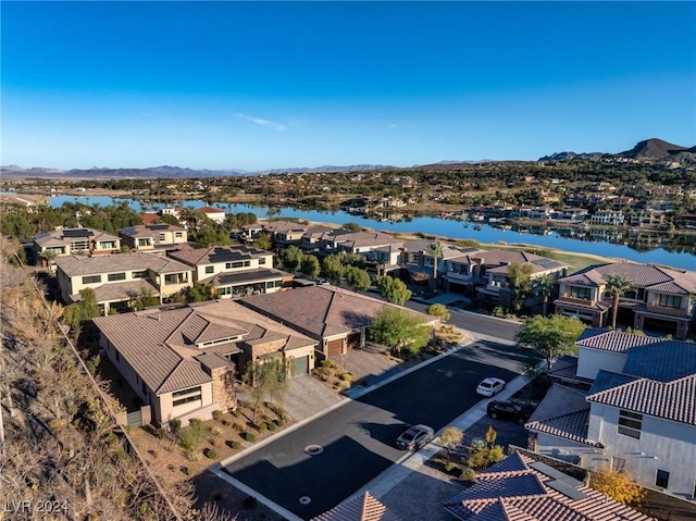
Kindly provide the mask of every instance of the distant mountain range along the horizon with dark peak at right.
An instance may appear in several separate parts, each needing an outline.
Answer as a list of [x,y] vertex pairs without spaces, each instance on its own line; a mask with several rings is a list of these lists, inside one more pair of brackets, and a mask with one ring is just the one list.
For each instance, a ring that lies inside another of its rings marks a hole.
[[[646,159],[655,161],[675,161],[681,164],[696,165],[696,147],[686,148],[673,145],[671,142],[663,141],[662,139],[646,139],[638,142],[631,150],[625,150],[619,153],[608,152],[556,152],[550,156],[544,156],[538,161],[570,161],[572,159],[588,159],[598,161],[600,159]],[[482,161],[440,161],[433,164],[417,165],[411,168],[419,169],[437,169],[437,168],[453,168],[458,164],[472,164],[472,163],[504,163],[504,162],[526,162],[526,161],[496,161],[496,160],[482,160]],[[109,169],[104,166],[94,166],[86,170],[58,170],[46,168],[30,168],[23,169],[15,164],[0,166],[0,175],[4,177],[61,177],[61,178],[74,178],[74,179],[99,179],[99,178],[194,178],[194,177],[217,177],[229,175],[262,175],[262,174],[299,174],[299,173],[336,173],[336,172],[364,172],[373,170],[386,170],[386,169],[402,169],[403,166],[388,166],[382,164],[353,164],[349,166],[314,166],[314,168],[293,168],[293,169],[273,169],[263,171],[246,171],[239,169],[226,169],[226,170],[195,170],[184,169],[181,166],[151,166],[147,169]]]

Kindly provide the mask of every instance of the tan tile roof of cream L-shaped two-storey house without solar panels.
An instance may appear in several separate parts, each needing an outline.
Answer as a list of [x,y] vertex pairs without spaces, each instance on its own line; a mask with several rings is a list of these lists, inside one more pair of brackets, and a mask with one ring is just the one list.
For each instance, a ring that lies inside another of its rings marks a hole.
[[173,259],[138,251],[95,257],[71,255],[57,258],[55,264],[67,276],[98,275],[129,270],[152,270],[156,273],[190,272],[191,270],[190,266]]

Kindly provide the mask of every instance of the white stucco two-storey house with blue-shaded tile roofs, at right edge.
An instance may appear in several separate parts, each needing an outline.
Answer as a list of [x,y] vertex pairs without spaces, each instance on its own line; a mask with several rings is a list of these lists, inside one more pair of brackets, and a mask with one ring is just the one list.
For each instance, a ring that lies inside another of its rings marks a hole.
[[589,387],[549,389],[525,425],[531,448],[696,499],[696,344],[587,330],[577,345]]

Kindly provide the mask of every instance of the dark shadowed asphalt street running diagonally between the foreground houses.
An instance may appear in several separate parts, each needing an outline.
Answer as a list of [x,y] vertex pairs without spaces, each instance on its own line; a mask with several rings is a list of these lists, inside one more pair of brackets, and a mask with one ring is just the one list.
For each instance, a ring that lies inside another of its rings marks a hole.
[[[394,442],[406,425],[440,430],[481,399],[474,392],[481,380],[512,380],[523,358],[509,343],[476,342],[287,432],[224,471],[310,519],[399,460],[405,452]],[[304,451],[310,445],[323,451],[311,456]]]

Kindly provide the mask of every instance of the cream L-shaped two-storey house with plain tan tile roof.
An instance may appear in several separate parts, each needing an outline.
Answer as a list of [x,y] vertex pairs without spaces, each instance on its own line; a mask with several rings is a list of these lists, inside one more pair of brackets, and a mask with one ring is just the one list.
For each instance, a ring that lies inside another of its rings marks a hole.
[[55,260],[55,277],[64,302],[79,300],[91,288],[104,314],[125,310],[142,291],[165,302],[192,285],[191,268],[173,259],[130,252],[112,256],[67,256]]

